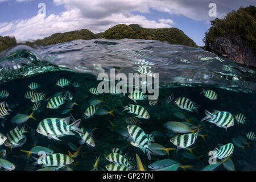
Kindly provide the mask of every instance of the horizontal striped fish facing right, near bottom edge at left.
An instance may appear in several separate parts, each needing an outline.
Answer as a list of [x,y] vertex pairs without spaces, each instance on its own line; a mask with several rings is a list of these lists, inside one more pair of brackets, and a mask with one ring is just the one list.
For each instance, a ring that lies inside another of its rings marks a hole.
[[58,166],[59,168],[64,167],[66,165],[72,164],[74,162],[74,159],[69,157],[68,155],[65,154],[50,154],[50,155],[45,155],[42,158],[35,158],[36,160],[33,164],[43,164],[43,167],[48,167],[48,166]]

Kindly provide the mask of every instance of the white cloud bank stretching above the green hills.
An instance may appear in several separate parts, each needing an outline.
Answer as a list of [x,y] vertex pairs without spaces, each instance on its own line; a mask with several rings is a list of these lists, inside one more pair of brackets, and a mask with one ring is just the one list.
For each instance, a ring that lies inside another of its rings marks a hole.
[[[0,0],[0,2],[3,0]],[[16,0],[30,1],[30,0]],[[19,19],[13,22],[0,23],[1,35],[12,35],[19,41],[28,39],[42,39],[55,32],[66,32],[86,28],[94,33],[105,31],[115,24],[137,23],[147,28],[171,27],[174,21],[167,19],[147,20],[144,16],[135,16],[132,11],[150,13],[151,9],[166,13],[184,15],[195,20],[209,22],[208,5],[212,0],[53,0],[55,5],[62,5],[66,11],[59,15],[51,14],[47,17],[37,15],[30,19]],[[241,3],[224,3],[221,0],[217,4],[218,18],[231,10],[238,9],[240,5],[255,4],[252,0]]]

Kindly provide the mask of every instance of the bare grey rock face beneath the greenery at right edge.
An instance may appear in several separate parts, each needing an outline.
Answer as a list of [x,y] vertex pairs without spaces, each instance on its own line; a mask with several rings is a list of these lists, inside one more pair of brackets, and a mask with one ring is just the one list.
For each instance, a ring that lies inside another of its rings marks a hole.
[[236,63],[256,67],[253,47],[240,36],[220,36],[209,48],[210,51],[234,60]]

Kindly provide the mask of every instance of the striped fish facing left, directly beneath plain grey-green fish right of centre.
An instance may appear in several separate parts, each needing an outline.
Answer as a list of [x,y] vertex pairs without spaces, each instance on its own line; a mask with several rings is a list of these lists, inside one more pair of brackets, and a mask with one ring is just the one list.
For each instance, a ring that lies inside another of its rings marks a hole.
[[192,153],[192,148],[188,148],[192,146],[196,142],[197,135],[199,133],[199,126],[197,128],[196,133],[189,133],[183,135],[176,135],[170,139],[170,142],[177,146],[176,152],[178,152],[181,148],[188,149]]

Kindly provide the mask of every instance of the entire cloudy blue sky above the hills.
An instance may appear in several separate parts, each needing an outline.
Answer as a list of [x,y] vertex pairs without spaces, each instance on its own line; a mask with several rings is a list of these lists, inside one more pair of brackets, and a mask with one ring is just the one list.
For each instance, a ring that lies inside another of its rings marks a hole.
[[[209,7],[210,3],[216,6]],[[204,46],[210,20],[224,18],[230,11],[249,5],[256,6],[256,1],[0,0],[0,35],[15,36],[18,42],[24,42],[84,28],[96,34],[124,23],[144,28],[179,28],[198,46]]]

